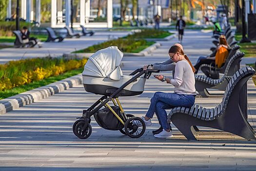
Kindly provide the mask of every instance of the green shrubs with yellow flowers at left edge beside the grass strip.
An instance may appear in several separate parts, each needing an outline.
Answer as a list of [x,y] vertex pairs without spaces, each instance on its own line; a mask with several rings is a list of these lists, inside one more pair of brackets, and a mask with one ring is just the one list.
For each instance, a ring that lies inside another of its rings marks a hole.
[[35,58],[0,64],[0,91],[57,76],[84,66],[87,59]]

